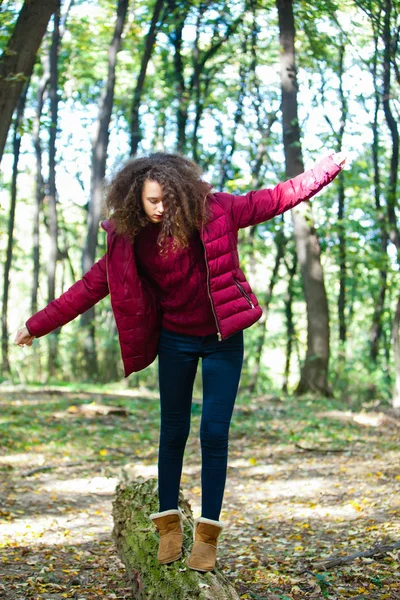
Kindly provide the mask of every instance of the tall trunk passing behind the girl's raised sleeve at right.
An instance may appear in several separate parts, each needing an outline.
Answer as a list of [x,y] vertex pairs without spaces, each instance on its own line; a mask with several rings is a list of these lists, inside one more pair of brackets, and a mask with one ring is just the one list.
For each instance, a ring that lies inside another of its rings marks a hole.
[[[291,179],[304,171],[297,113],[293,2],[292,0],[277,0],[277,7],[282,46],[280,63],[283,144],[286,177]],[[307,353],[301,368],[301,378],[296,393],[319,392],[330,395],[331,391],[328,387],[328,302],[321,265],[321,250],[310,203],[302,202],[292,210],[292,216],[307,307]]]

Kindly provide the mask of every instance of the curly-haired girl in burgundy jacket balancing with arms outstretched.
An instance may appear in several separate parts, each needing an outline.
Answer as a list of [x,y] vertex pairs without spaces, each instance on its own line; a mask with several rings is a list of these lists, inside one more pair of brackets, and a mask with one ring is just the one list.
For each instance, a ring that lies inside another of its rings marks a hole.
[[200,168],[179,154],[131,160],[111,183],[107,252],[58,299],[26,322],[16,344],[31,346],[108,293],[125,376],[159,359],[161,428],[158,560],[182,556],[179,485],[193,383],[202,359],[202,509],[188,566],[211,571],[223,524],[228,434],[243,362],[243,329],[261,308],[239,266],[238,230],[311,198],[344,165],[331,154],[273,189],[243,196],[211,192]]

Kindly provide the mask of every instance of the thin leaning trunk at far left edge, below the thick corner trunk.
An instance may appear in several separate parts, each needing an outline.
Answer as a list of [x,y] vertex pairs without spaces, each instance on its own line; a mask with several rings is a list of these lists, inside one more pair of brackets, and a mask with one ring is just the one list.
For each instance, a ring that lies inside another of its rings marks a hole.
[[17,203],[17,178],[18,178],[18,161],[21,148],[21,132],[20,127],[24,116],[26,94],[28,92],[29,81],[27,81],[23,93],[18,102],[17,114],[14,124],[14,137],[13,137],[13,154],[14,164],[11,179],[11,202],[10,202],[10,214],[8,217],[8,237],[7,237],[7,250],[6,250],[6,261],[4,263],[4,283],[3,283],[3,303],[2,303],[2,336],[1,336],[1,350],[2,350],[2,372],[3,375],[10,374],[10,362],[8,359],[8,296],[10,287],[10,271],[12,263],[12,251],[14,242],[14,225],[15,225],[15,206]]

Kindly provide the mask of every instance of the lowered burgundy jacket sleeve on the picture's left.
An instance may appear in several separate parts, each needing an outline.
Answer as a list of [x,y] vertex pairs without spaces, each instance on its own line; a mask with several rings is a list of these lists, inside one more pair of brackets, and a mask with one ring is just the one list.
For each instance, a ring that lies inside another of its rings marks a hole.
[[109,293],[106,255],[102,256],[87,273],[59,298],[35,313],[25,326],[35,337],[42,337],[61,327],[94,306]]

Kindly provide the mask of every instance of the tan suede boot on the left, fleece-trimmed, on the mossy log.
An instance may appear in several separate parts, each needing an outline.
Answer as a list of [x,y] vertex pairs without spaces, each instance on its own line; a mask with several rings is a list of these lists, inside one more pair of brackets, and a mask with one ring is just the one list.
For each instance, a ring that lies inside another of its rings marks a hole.
[[183,522],[182,512],[178,509],[164,510],[150,515],[160,534],[158,562],[162,565],[178,560],[182,556]]

